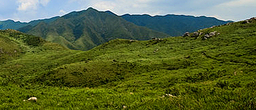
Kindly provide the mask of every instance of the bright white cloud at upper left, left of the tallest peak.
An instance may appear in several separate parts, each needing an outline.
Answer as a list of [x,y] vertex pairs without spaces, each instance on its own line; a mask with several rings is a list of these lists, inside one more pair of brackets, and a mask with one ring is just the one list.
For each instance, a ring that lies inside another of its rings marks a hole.
[[39,5],[43,5],[43,7],[47,6],[47,4],[51,0],[18,0],[18,9],[17,10],[37,10]]

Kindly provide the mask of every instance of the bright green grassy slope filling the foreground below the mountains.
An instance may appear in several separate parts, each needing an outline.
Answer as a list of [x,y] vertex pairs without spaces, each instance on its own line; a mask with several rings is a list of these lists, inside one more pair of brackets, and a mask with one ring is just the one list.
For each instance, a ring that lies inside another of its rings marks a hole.
[[[85,52],[38,46],[0,65],[0,107],[255,109],[255,28],[256,21],[203,29],[221,33],[207,40],[116,39]],[[36,103],[22,101],[32,96]]]

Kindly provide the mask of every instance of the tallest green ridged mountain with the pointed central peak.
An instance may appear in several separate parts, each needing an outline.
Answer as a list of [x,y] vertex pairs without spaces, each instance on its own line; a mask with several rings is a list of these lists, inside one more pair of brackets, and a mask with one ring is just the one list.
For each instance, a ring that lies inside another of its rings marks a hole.
[[170,37],[93,8],[71,12],[56,18],[53,22],[43,21],[36,26],[22,27],[18,30],[75,50],[88,50],[117,38],[148,40],[152,37]]

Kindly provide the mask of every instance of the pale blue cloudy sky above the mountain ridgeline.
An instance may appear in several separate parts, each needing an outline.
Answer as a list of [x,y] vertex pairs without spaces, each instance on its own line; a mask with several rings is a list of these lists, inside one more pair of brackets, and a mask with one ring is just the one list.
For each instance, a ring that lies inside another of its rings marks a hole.
[[178,14],[234,21],[256,17],[256,0],[0,0],[0,20],[30,22],[89,7],[117,15]]

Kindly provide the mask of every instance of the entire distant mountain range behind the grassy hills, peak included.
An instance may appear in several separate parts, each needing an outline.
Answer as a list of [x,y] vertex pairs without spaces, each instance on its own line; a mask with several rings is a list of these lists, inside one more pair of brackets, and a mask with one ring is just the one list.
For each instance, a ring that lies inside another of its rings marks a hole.
[[152,37],[179,36],[186,31],[196,31],[228,22],[230,21],[205,16],[117,16],[110,11],[100,12],[89,8],[70,12],[61,17],[33,20],[28,23],[0,21],[0,29],[16,29],[66,48],[88,50],[111,39],[148,40]]

